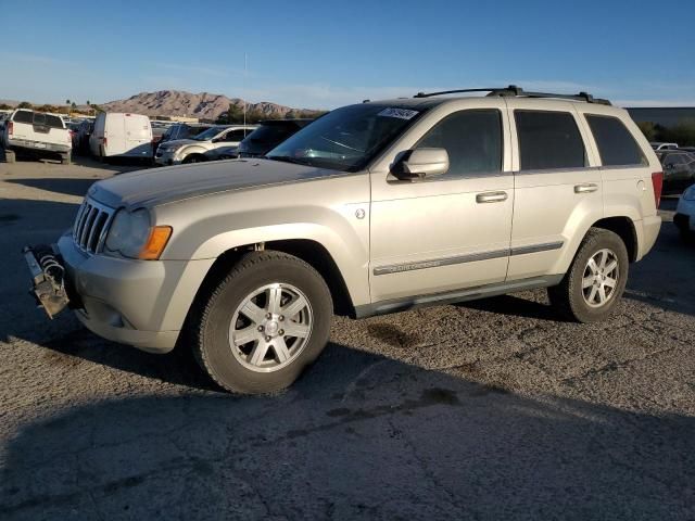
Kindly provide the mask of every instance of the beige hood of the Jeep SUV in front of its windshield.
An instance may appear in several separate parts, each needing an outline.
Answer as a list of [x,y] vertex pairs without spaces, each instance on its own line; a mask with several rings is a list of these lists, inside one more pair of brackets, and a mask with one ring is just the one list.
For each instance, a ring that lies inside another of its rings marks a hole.
[[345,175],[270,160],[230,160],[150,168],[96,182],[87,194],[111,207],[155,206],[228,190]]

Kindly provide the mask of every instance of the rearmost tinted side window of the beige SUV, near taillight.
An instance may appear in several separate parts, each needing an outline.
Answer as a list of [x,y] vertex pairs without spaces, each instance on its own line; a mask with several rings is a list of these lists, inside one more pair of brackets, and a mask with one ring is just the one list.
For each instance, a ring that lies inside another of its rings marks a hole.
[[647,164],[642,149],[620,119],[586,114],[586,122],[596,140],[602,165]]

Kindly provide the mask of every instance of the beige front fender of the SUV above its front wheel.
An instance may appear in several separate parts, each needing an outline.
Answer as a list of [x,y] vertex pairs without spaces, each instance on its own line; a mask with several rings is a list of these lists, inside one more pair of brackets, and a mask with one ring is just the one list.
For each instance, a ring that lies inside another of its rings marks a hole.
[[174,229],[166,259],[214,259],[257,243],[314,241],[362,305],[369,303],[368,201],[368,179],[345,176],[194,198],[155,213],[157,223]]

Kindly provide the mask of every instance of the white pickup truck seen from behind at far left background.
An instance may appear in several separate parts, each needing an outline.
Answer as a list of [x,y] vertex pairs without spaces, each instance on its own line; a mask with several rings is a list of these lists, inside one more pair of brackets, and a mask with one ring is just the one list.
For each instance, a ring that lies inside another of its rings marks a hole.
[[[58,114],[17,109],[5,120],[0,138],[8,161],[14,157],[12,152],[26,155],[59,155],[63,164],[71,161],[73,143],[70,130]],[[7,151],[11,153],[8,154]]]

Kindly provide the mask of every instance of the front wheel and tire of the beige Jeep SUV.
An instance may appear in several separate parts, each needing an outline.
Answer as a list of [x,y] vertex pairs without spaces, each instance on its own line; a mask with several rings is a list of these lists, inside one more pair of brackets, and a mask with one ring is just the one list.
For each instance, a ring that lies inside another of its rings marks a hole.
[[[256,307],[247,307],[249,302]],[[281,306],[274,307],[273,302]],[[304,302],[299,312],[291,309]],[[292,316],[285,317],[285,309]],[[227,391],[273,393],[292,384],[321,353],[330,335],[332,309],[330,291],[312,266],[279,252],[252,252],[194,304],[190,322],[193,354]],[[286,334],[282,328],[300,336]]]

